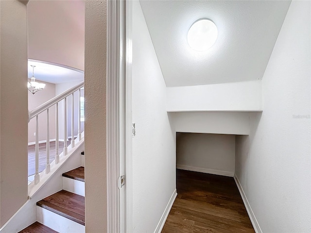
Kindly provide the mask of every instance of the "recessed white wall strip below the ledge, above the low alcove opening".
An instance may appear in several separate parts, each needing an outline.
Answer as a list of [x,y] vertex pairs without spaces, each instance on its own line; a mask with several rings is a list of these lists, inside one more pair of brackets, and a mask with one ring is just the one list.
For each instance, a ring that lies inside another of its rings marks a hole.
[[248,112],[170,113],[176,132],[249,134]]

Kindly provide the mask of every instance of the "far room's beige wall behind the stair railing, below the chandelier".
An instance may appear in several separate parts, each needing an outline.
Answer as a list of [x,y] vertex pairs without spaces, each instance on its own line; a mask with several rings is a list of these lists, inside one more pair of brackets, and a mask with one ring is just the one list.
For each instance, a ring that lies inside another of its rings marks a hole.
[[[30,79],[28,79],[30,81]],[[55,84],[39,81],[45,83],[46,86],[43,91],[38,91],[32,94],[28,91],[28,109],[29,111],[35,109],[41,104],[55,97]],[[50,139],[55,139],[55,107],[49,109],[50,118]],[[47,140],[47,111],[44,111],[38,116],[39,124],[39,141]],[[31,119],[28,124],[28,143],[35,142],[35,118]]]

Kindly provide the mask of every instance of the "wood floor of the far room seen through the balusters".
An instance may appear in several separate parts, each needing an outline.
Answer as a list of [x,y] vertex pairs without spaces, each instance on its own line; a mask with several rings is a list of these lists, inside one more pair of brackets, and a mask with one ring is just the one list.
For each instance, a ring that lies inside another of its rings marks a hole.
[[[67,141],[69,146],[71,139]],[[58,142],[59,154],[64,150],[64,142]],[[50,142],[50,163],[55,159],[56,143]],[[47,163],[46,143],[39,144],[39,172],[45,169]],[[35,174],[35,145],[28,146],[28,176]]]

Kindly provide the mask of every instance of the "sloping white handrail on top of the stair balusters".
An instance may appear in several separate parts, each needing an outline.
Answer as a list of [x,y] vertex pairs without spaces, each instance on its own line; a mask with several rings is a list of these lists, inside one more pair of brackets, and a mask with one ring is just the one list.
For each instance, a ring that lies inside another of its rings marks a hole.
[[81,87],[84,86],[84,82],[81,82],[73,87],[71,87],[70,89],[68,89],[67,91],[64,91],[63,93],[55,96],[54,98],[52,98],[51,100],[41,104],[40,106],[36,107],[35,109],[31,110],[29,112],[29,116],[28,116],[28,122],[34,118],[35,116],[37,116],[38,114],[42,113],[43,111],[47,110],[48,108],[50,108],[51,106],[53,106],[54,104],[56,104],[57,102],[59,102],[60,100],[63,100],[65,97],[69,96],[70,94],[72,94],[73,92],[79,90]]

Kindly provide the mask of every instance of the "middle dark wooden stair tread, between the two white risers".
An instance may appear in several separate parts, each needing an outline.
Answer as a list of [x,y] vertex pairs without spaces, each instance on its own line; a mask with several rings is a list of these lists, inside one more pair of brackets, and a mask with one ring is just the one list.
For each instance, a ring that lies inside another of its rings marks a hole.
[[37,206],[85,226],[85,197],[61,190],[37,202]]

